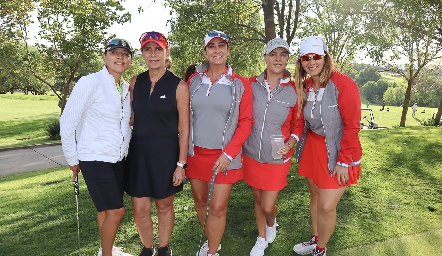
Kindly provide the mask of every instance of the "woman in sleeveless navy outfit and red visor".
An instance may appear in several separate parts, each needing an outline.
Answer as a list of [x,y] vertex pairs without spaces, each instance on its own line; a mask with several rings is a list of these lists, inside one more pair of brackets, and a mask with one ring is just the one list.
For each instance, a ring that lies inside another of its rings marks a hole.
[[174,194],[183,189],[189,139],[189,88],[166,69],[169,45],[164,35],[140,38],[148,70],[130,83],[133,125],[127,156],[125,190],[132,197],[134,219],[144,247],[153,255],[151,198],[158,215],[159,256],[172,255],[169,239],[175,213]]

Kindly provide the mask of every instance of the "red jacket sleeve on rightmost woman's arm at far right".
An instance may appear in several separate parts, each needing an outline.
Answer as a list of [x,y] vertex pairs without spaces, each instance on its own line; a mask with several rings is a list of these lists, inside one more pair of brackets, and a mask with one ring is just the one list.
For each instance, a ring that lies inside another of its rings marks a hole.
[[[334,79],[334,77],[337,79]],[[353,154],[357,152],[356,147],[359,145],[361,97],[358,85],[351,78],[340,73],[334,73],[332,80],[339,90],[338,107],[344,124],[337,162],[351,164],[353,161],[359,160]]]

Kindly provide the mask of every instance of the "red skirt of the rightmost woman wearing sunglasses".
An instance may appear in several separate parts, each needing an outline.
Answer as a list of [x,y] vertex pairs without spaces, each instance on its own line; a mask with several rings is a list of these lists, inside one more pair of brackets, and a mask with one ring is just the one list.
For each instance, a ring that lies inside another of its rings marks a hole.
[[[307,132],[304,150],[299,161],[298,174],[312,179],[322,189],[336,189],[358,183],[361,166],[348,167],[348,182],[345,185],[338,185],[337,177],[331,177],[328,172],[328,154],[324,136],[313,131]],[[333,166],[334,167],[334,166]]]

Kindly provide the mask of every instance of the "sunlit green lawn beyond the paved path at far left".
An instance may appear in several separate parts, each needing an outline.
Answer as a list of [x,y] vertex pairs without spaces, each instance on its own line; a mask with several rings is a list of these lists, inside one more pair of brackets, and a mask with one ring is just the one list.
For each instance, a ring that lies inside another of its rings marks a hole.
[[0,148],[54,142],[45,128],[60,117],[57,97],[2,94],[0,102]]

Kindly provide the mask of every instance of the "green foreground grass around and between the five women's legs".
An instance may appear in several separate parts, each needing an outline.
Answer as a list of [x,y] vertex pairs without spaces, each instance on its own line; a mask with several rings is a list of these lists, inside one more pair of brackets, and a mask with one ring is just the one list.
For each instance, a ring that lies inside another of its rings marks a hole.
[[[327,255],[437,255],[442,246],[441,132],[423,126],[361,131],[361,178],[338,205]],[[278,237],[266,255],[295,255],[293,245],[311,234],[308,188],[295,170],[294,164],[289,185],[280,193]],[[0,177],[0,255],[77,255],[70,177],[67,168]],[[94,255],[99,247],[96,212],[82,178],[79,201],[82,254]],[[141,245],[128,197],[125,205],[116,244],[136,255]],[[189,184],[176,196],[175,209],[174,255],[194,255],[201,228]],[[153,218],[156,222],[155,212]],[[239,182],[229,201],[221,255],[249,255],[256,236],[253,195]]]

